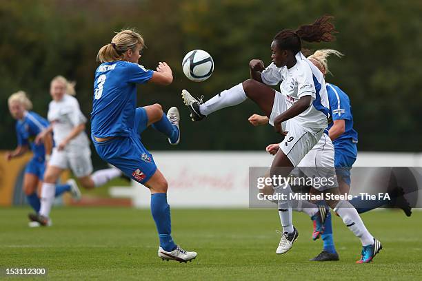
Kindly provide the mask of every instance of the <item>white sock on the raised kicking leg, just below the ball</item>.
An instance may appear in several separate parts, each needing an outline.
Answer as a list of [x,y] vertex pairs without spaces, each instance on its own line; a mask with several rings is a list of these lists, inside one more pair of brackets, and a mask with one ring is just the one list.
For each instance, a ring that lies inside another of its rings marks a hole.
[[245,94],[245,90],[243,90],[242,83],[231,87],[229,90],[225,90],[217,96],[213,96],[205,103],[199,105],[199,112],[201,114],[208,116],[212,112],[216,112],[217,110],[221,110],[224,107],[239,105],[239,103],[243,103],[243,101],[248,98]]

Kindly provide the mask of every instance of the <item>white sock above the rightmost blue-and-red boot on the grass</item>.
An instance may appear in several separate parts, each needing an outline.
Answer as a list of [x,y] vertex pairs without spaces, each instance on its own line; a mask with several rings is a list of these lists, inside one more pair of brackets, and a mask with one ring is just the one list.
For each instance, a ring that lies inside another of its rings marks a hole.
[[363,225],[361,217],[350,202],[340,200],[334,208],[334,211],[339,214],[344,224],[354,233],[354,235],[361,239],[362,246],[374,244],[374,237],[369,233],[365,225]]

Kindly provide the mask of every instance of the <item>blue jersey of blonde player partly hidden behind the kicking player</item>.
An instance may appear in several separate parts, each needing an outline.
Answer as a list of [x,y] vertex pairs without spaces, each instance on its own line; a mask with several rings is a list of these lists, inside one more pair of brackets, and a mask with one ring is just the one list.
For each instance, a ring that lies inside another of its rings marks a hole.
[[330,101],[330,120],[328,121],[327,129],[330,129],[332,125],[334,125],[334,120],[345,121],[344,133],[332,142],[334,147],[336,146],[336,143],[341,143],[346,140],[357,143],[358,134],[353,129],[352,106],[350,105],[348,95],[336,85],[329,83],[327,83],[327,93],[328,100]]

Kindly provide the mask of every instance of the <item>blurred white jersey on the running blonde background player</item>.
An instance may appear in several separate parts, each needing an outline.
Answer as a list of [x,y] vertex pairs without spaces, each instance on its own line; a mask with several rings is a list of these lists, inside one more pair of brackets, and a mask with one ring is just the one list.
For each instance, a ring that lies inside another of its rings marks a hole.
[[[65,94],[61,101],[50,101],[48,105],[48,121],[52,123],[54,143],[59,145],[72,132],[77,125],[86,123],[78,100],[73,96]],[[85,132],[72,138],[66,150],[89,147],[88,136]]]

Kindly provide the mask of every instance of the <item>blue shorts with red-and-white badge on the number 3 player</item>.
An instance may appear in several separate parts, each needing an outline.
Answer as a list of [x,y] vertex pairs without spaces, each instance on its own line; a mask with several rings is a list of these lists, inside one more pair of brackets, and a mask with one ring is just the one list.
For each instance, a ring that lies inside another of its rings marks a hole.
[[146,129],[148,117],[142,107],[137,108],[134,129],[130,136],[98,142],[92,138],[99,156],[138,183],[146,183],[157,171],[154,158],[141,143],[139,134]]

